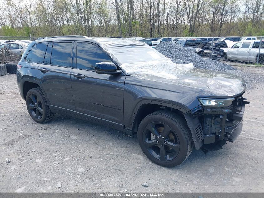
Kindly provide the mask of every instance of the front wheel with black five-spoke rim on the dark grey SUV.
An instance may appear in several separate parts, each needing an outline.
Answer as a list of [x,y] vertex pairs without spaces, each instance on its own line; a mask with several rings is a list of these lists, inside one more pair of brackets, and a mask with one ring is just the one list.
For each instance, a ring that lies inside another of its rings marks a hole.
[[[169,129],[169,132],[165,129]],[[192,135],[186,121],[170,111],[156,111],[146,116],[139,124],[137,137],[143,153],[164,167],[180,165],[193,148]]]

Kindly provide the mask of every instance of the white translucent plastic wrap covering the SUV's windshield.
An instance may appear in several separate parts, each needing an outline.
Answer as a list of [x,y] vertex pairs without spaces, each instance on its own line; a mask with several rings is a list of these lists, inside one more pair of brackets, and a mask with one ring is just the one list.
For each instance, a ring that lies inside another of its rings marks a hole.
[[102,48],[126,74],[178,79],[194,68],[193,64],[175,64],[170,58],[140,41],[109,38],[100,38],[100,41]]

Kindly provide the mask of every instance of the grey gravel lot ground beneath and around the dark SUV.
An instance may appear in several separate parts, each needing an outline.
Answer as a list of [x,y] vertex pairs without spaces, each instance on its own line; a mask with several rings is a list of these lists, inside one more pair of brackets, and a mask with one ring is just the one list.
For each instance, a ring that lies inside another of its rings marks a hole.
[[35,123],[16,76],[0,76],[0,192],[264,192],[263,86],[244,94],[251,103],[235,143],[193,150],[182,165],[163,168],[117,130],[59,114]]

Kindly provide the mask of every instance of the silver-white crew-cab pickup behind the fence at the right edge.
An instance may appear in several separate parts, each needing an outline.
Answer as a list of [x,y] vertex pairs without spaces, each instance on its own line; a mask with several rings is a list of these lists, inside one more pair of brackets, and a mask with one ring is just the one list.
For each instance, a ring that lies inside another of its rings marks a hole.
[[[260,40],[244,40],[224,50],[224,59],[257,62]],[[259,63],[264,63],[264,40],[261,42]]]

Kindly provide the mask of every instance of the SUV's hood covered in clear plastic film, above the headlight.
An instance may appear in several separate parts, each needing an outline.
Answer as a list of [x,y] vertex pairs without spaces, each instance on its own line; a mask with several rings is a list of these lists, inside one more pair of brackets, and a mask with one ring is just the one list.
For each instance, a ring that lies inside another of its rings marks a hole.
[[[199,68],[186,72],[179,79],[158,78],[153,75],[138,77],[159,82],[156,87],[160,89],[177,92],[184,90],[186,94],[197,96],[232,97],[241,94],[247,87],[247,82],[237,75]],[[179,90],[179,85],[185,88]]]

